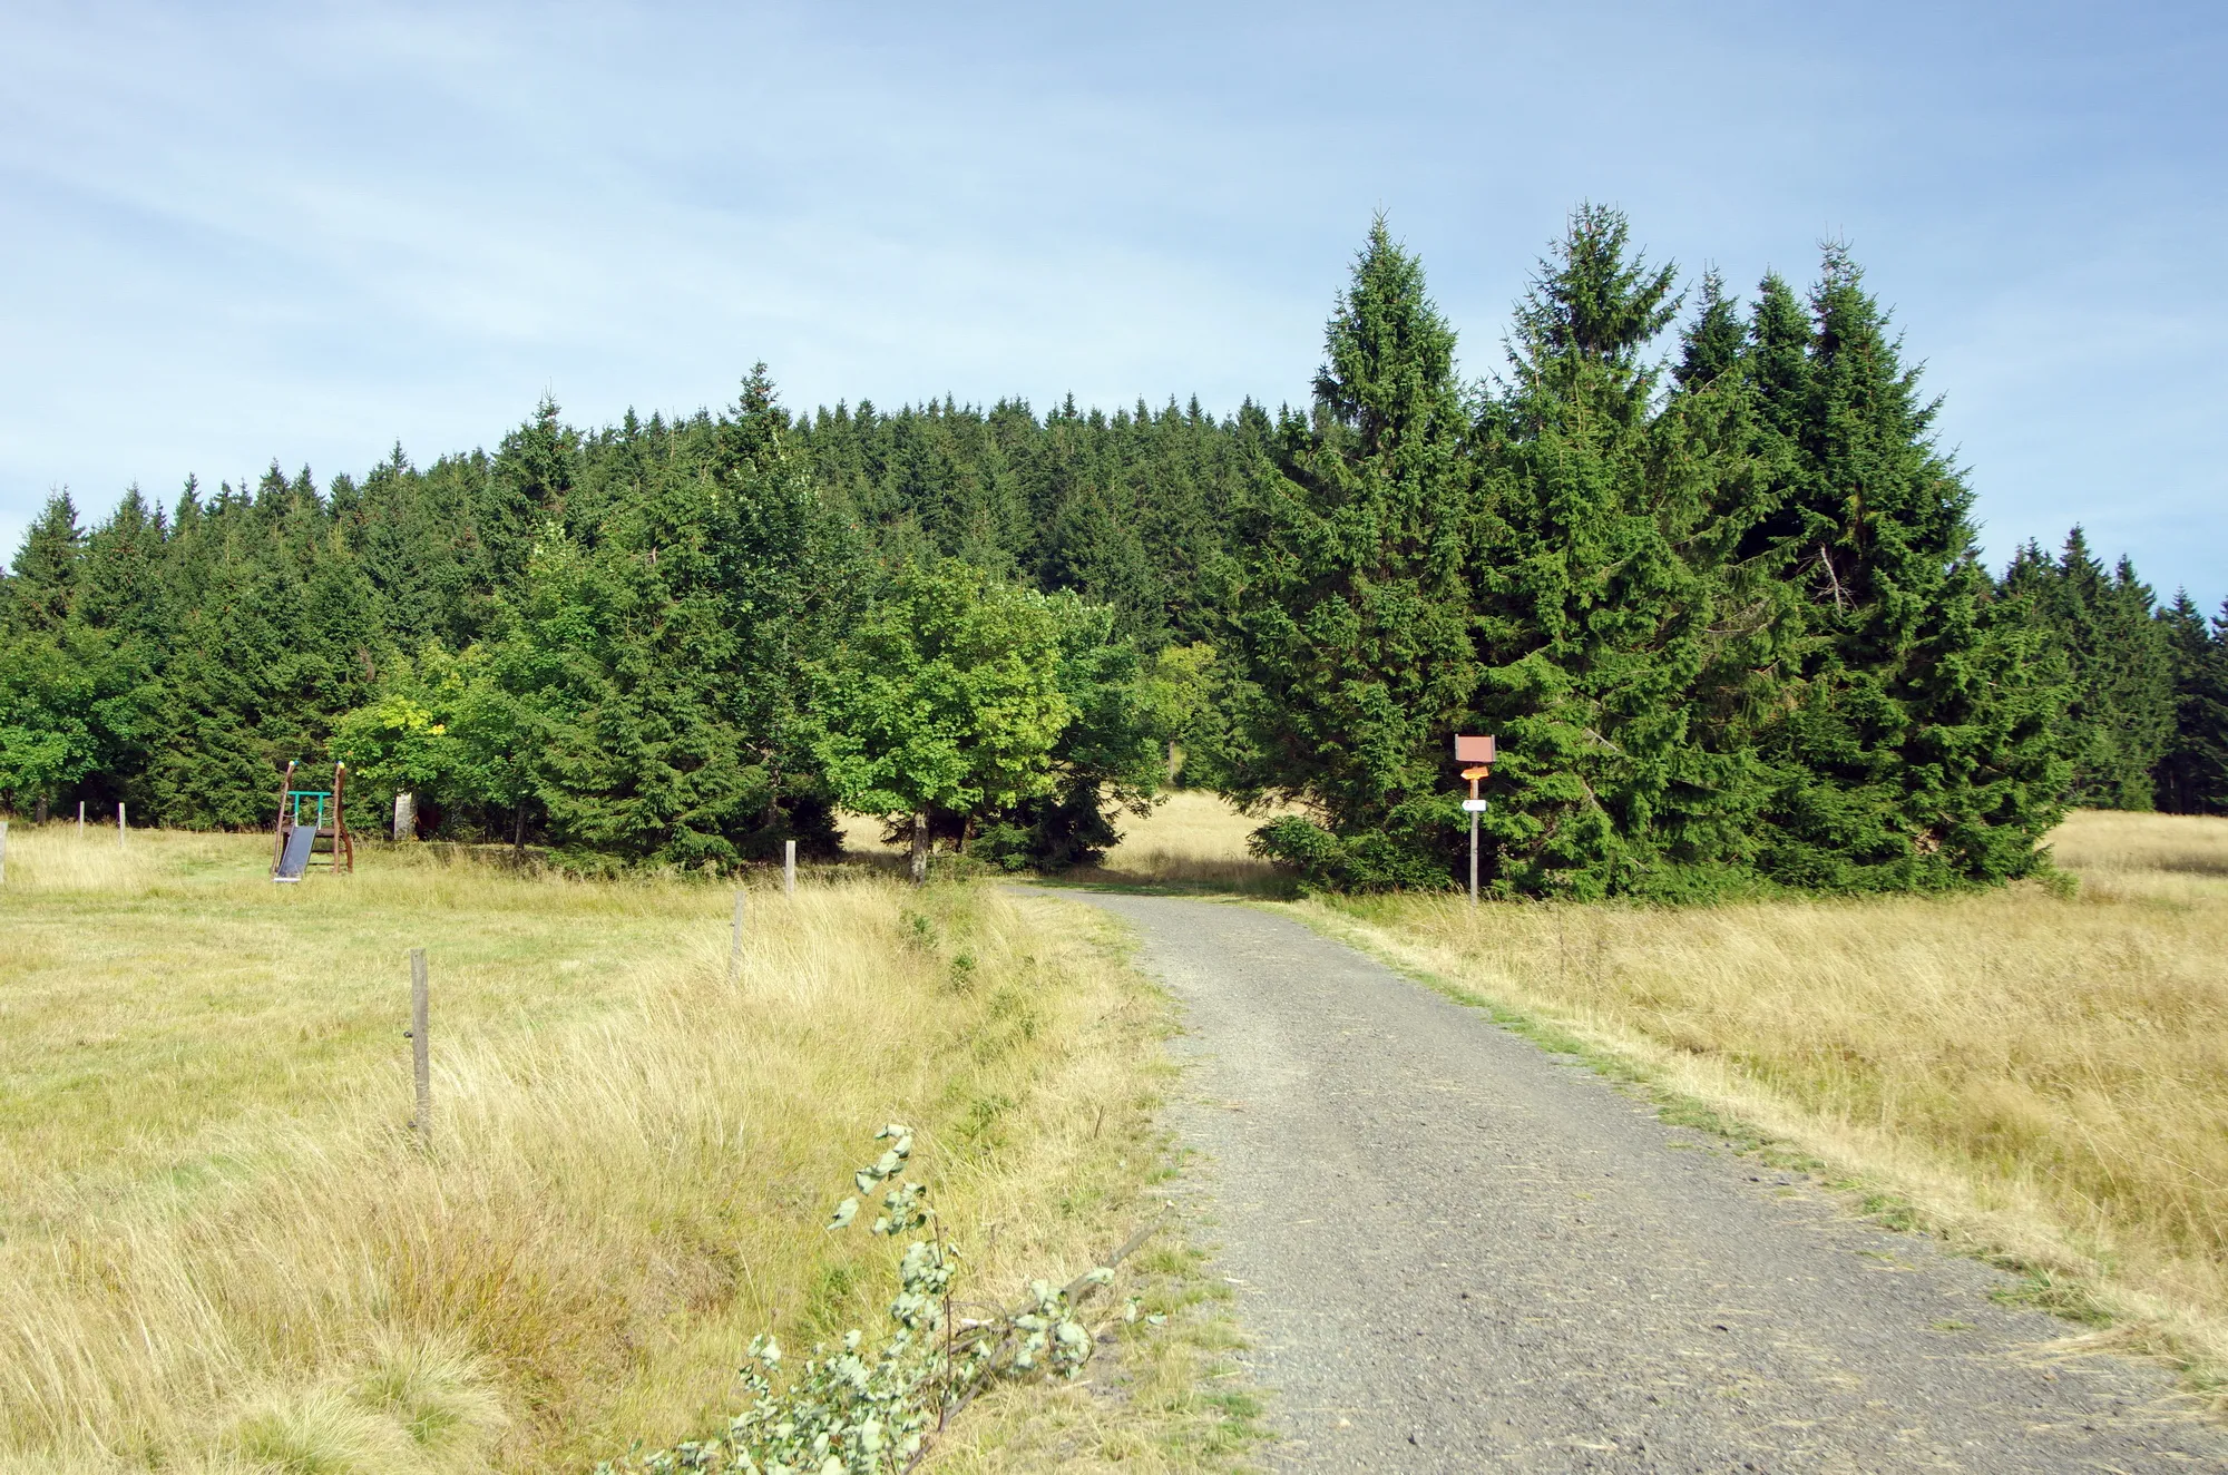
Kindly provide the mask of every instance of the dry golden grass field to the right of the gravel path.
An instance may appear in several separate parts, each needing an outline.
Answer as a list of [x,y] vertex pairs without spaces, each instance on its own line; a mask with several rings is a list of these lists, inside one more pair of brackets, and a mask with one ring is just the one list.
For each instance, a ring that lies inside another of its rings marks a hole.
[[2228,1375],[2228,822],[2074,815],[2079,896],[1290,911]]

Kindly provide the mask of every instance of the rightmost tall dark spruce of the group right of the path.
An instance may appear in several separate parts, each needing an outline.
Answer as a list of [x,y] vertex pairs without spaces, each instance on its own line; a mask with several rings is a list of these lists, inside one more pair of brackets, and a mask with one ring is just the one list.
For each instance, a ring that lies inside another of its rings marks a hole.
[[1809,639],[1760,737],[1778,771],[1760,867],[1823,889],[2021,876],[2059,813],[2054,693],[1981,570],[1938,403],[1847,250],[1827,247],[1800,368],[1773,343],[1798,336],[1773,299],[1767,283],[1756,383],[1789,466],[1767,535]]

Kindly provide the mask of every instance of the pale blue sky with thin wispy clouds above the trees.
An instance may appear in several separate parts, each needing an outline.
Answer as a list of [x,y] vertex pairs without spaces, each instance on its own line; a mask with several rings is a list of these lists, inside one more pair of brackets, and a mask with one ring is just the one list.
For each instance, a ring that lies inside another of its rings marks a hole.
[[1299,399],[1384,209],[1464,368],[1582,201],[1854,243],[1992,561],[2228,595],[2217,4],[0,4],[0,546],[733,397]]

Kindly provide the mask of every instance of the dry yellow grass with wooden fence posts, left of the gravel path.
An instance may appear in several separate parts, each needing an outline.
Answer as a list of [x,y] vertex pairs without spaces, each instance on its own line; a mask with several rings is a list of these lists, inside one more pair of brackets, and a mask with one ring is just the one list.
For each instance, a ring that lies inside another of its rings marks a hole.
[[[820,1225],[887,1119],[918,1123],[985,1290],[1139,1212],[1161,1000],[1049,902],[760,891],[731,985],[726,891],[265,867],[256,838],[11,836],[0,1471],[564,1471],[686,1437],[753,1332],[878,1315],[889,1246]],[[1163,1428],[1221,1417],[1199,1357],[1139,1357]],[[942,1459],[1000,1468],[1034,1408]],[[1116,1433],[1134,1468],[1196,1468]]]

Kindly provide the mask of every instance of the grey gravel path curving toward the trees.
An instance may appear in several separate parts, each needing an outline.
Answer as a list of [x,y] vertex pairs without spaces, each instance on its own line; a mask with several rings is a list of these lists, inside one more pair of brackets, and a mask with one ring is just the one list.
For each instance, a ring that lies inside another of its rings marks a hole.
[[1292,1471],[2228,1471],[2170,1379],[1248,907],[1143,934],[1176,1132]]

